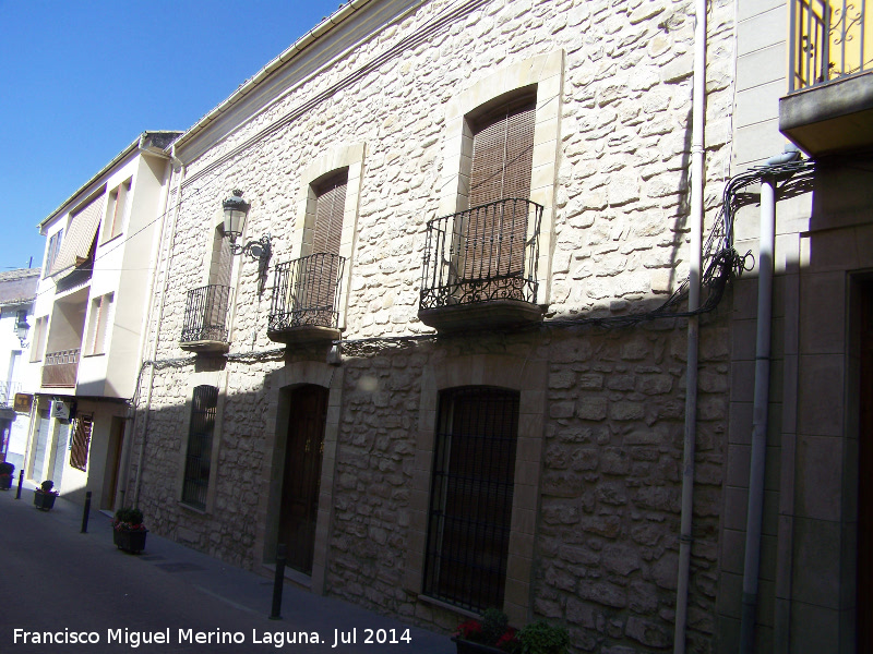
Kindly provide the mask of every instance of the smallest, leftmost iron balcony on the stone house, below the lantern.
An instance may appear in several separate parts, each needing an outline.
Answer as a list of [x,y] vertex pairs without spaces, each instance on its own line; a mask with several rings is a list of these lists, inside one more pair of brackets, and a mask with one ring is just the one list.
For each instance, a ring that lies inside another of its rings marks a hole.
[[210,284],[188,291],[179,347],[193,351],[227,351],[230,288]]

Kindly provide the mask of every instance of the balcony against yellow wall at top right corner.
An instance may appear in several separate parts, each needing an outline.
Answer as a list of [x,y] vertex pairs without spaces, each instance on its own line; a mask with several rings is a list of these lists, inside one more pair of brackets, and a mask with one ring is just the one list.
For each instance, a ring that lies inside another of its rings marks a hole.
[[779,101],[779,130],[813,156],[873,146],[871,2],[789,4],[791,70],[788,95]]

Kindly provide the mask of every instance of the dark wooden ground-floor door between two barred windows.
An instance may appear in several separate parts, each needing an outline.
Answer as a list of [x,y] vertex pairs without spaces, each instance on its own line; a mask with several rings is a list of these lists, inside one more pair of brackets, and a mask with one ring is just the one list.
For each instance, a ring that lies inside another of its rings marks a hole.
[[321,386],[295,389],[288,419],[278,542],[287,548],[287,565],[307,574],[315,545],[327,392]]

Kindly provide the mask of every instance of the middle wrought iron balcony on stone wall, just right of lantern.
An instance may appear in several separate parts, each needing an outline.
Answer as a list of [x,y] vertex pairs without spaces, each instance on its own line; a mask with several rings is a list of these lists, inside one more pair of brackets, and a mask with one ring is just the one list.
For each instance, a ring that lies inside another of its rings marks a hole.
[[339,295],[346,259],[310,254],[276,266],[267,336],[284,343],[339,338]]

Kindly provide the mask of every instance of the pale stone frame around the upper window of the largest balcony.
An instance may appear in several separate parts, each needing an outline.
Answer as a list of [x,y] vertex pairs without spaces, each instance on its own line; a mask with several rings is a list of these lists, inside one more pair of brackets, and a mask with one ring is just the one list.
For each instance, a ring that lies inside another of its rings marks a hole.
[[467,195],[473,162],[470,118],[489,104],[516,93],[536,89],[534,160],[530,201],[543,206],[537,259],[537,304],[549,304],[551,253],[554,242],[555,193],[560,157],[561,105],[564,80],[564,50],[531,57],[501,68],[457,94],[445,113],[446,140],[443,146],[442,190],[439,216],[450,216],[469,207]]

